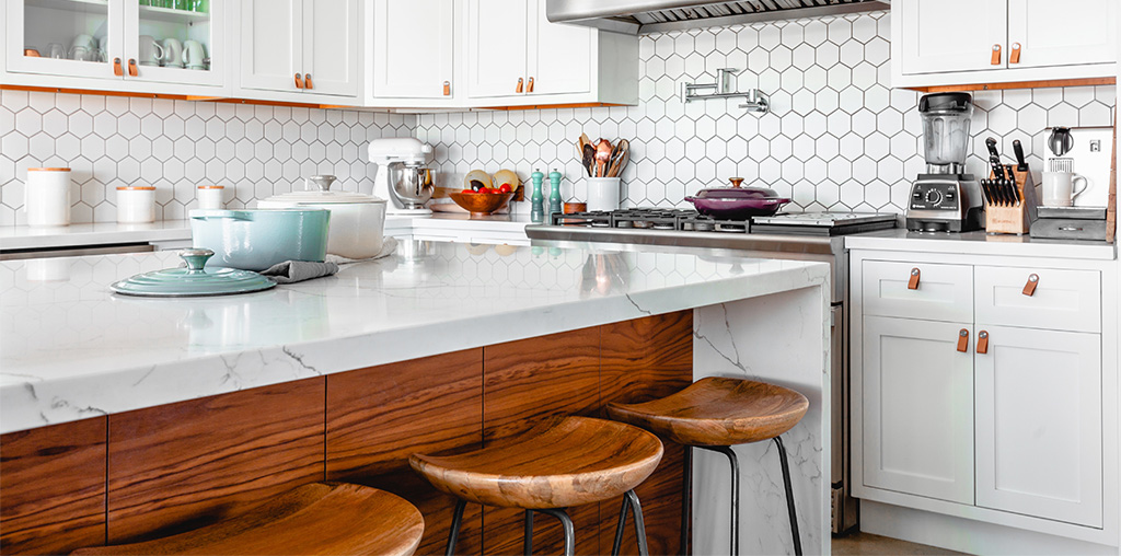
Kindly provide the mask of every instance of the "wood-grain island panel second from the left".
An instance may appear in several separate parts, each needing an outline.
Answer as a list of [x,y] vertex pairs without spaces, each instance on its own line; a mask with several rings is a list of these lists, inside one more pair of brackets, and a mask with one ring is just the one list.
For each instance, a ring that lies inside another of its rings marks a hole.
[[109,416],[109,543],[240,516],[324,478],[323,378]]

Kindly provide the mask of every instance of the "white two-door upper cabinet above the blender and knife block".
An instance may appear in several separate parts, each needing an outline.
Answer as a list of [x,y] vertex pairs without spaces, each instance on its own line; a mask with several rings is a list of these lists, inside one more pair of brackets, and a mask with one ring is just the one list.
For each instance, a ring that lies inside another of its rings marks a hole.
[[892,86],[1113,77],[1115,0],[897,0]]

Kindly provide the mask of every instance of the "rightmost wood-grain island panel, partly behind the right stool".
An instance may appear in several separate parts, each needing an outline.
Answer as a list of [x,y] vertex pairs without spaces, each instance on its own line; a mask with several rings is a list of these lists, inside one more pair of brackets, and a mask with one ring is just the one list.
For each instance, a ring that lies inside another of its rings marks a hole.
[[[601,400],[634,404],[669,396],[693,381],[693,312],[683,311],[603,326]],[[663,438],[658,469],[634,492],[642,502],[650,554],[682,554],[682,472],[685,448]],[[600,546],[611,550],[622,499],[600,502]],[[638,554],[628,517],[623,554]]]

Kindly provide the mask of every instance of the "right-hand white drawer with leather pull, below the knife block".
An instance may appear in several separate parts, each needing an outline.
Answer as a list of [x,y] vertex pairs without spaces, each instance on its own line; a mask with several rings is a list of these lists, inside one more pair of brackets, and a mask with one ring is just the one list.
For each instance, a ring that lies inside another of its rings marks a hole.
[[[976,267],[976,322],[1027,328],[1101,332],[1096,270]],[[1025,286],[1035,275],[1035,291]]]

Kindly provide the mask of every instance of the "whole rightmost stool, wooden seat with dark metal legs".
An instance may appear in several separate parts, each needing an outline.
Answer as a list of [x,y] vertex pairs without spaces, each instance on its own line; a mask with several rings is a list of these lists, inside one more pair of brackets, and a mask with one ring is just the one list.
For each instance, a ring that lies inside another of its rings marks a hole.
[[802,555],[798,520],[786,448],[779,435],[794,428],[809,408],[799,392],[752,380],[711,377],[684,390],[643,404],[608,404],[608,415],[685,445],[685,498],[682,509],[682,549],[687,545],[692,481],[692,447],[719,452],[732,464],[731,554],[740,553],[740,465],[731,446],[773,441],[782,466],[794,553]]

